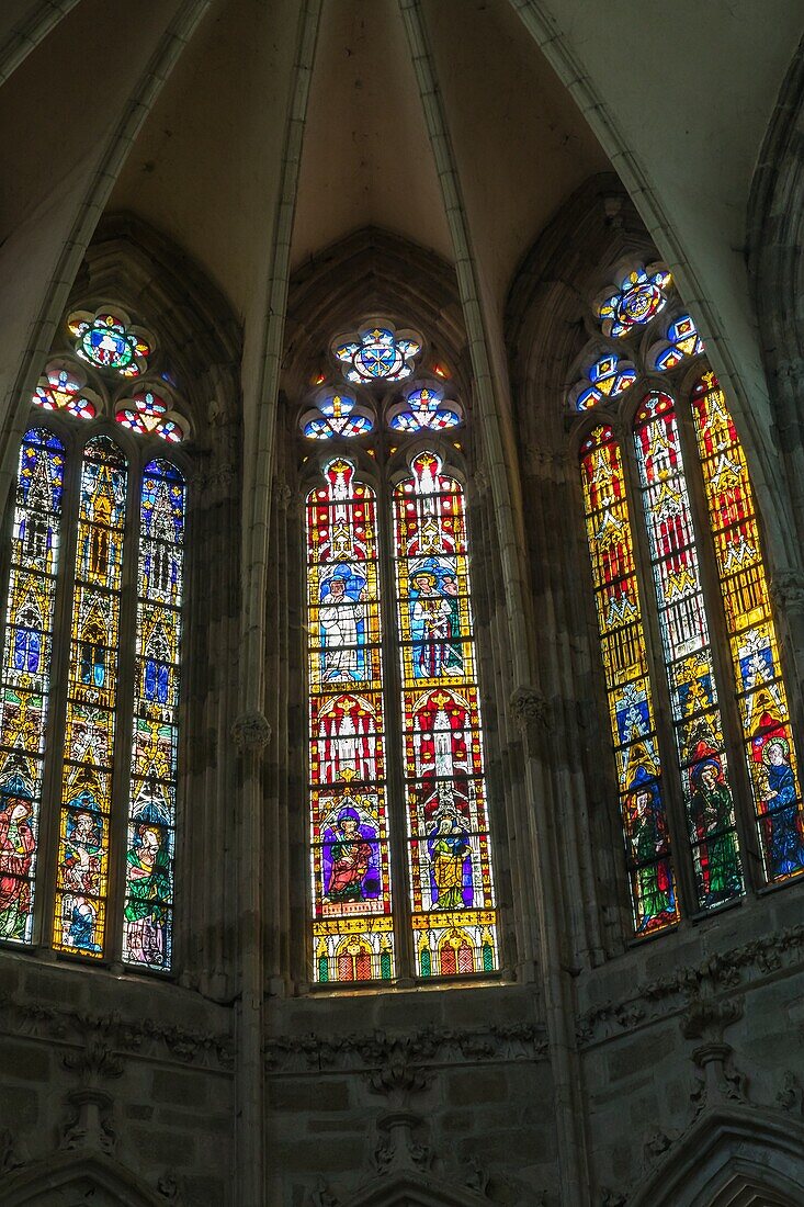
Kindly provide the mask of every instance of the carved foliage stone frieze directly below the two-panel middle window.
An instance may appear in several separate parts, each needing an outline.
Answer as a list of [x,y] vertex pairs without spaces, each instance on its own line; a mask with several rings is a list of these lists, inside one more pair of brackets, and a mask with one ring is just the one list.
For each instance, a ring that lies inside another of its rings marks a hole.
[[[505,1062],[540,1060],[547,1051],[544,1033],[531,1024],[490,1024],[473,1030],[426,1027],[404,1036],[273,1036],[266,1040],[269,1073],[309,1069],[373,1072],[378,1086],[397,1074],[415,1078],[416,1071],[454,1066],[464,1061]],[[392,1072],[396,1071],[396,1072]]]

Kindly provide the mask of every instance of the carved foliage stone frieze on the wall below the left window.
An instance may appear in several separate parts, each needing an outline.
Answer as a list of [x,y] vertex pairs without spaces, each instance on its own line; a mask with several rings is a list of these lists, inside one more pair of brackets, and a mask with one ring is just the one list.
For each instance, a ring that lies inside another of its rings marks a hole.
[[[127,1054],[226,1069],[234,1063],[233,1039],[227,1033],[194,1031],[161,1019],[124,1019],[117,1011],[93,1014],[45,1005],[11,995],[0,998],[0,1027],[6,1034],[69,1045],[65,1068],[81,1075],[82,1069],[88,1074],[94,1066],[93,1084],[99,1084],[104,1067],[116,1067],[118,1059]],[[83,1084],[89,1084],[86,1078]]]

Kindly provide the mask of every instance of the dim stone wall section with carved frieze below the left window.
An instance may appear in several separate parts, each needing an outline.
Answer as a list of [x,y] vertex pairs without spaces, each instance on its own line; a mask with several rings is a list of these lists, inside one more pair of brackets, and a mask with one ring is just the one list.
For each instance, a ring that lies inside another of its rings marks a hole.
[[229,1201],[231,1009],[6,952],[0,986],[0,1202],[60,1202],[53,1170],[98,1155],[156,1202]]

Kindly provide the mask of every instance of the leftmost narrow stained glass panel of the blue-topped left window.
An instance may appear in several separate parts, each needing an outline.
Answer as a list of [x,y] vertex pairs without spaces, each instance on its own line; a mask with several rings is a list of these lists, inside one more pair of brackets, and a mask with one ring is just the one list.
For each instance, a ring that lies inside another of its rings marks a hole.
[[64,444],[25,432],[11,536],[0,713],[0,938],[30,943],[60,556]]

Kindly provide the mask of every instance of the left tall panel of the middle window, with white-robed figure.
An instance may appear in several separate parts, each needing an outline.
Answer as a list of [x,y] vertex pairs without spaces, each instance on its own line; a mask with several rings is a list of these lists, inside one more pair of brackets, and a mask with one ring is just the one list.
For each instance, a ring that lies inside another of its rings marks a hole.
[[307,500],[314,975],[395,975],[377,501],[334,457]]

